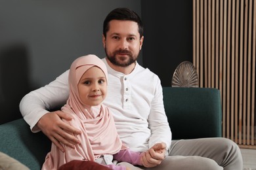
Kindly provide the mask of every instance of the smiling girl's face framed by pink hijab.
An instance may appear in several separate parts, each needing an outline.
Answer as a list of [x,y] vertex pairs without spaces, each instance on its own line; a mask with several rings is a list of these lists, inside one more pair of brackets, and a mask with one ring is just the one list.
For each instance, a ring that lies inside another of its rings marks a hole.
[[106,98],[107,82],[103,71],[94,66],[85,71],[77,85],[81,101],[85,105],[100,105]]

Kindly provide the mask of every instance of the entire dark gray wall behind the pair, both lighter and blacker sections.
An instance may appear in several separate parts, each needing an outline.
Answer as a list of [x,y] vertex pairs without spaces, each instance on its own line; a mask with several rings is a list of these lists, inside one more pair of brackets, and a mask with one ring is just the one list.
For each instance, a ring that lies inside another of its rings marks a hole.
[[[85,54],[105,56],[102,22],[116,7],[144,22],[139,63],[163,86],[181,61],[192,61],[192,1],[0,1],[0,124],[21,118],[20,99],[66,71]],[[142,58],[143,56],[143,58]]]

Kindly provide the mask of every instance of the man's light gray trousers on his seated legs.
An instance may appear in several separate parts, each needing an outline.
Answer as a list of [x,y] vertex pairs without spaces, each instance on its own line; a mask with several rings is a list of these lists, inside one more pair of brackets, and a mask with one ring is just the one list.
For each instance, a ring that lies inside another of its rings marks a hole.
[[203,138],[172,141],[169,156],[156,167],[135,167],[126,162],[117,165],[153,170],[242,170],[243,160],[240,148],[230,139]]

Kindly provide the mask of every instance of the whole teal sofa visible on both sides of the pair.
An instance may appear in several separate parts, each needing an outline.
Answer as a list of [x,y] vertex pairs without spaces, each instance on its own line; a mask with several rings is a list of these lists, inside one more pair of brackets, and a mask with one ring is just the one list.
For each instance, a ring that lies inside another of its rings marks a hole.
[[[221,137],[221,97],[213,88],[163,87],[165,112],[173,139]],[[32,133],[21,118],[0,125],[0,152],[30,169],[41,169],[51,141]]]

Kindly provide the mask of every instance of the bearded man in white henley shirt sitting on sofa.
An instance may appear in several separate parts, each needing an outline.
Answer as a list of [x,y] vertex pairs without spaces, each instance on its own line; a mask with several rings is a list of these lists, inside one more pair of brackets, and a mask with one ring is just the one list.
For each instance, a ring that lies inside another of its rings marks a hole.
[[[142,164],[150,169],[242,169],[240,150],[229,139],[182,140],[171,144],[160,78],[137,63],[143,39],[142,22],[132,10],[114,9],[106,16],[102,42],[109,80],[104,104],[112,111],[123,143],[142,152]],[[62,152],[60,143],[74,146],[82,142],[69,135],[79,134],[79,129],[60,119],[72,118],[60,111],[49,112],[63,105],[67,98],[68,71],[49,85],[28,93],[20,103],[20,111],[32,131],[41,129]]]

